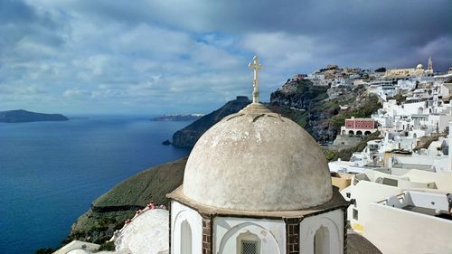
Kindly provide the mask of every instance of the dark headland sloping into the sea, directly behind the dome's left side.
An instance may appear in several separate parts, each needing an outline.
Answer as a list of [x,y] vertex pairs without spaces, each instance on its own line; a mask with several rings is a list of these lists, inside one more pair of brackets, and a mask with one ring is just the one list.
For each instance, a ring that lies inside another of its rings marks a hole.
[[237,99],[231,100],[221,108],[212,113],[199,118],[191,125],[184,127],[173,135],[173,146],[193,147],[202,134],[224,118],[233,113],[239,112],[241,108],[245,108],[251,101],[248,97],[238,96]]

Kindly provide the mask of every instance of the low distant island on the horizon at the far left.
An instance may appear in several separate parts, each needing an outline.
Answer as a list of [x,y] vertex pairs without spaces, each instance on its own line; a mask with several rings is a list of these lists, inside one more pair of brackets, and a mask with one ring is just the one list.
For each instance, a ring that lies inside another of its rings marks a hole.
[[28,123],[42,121],[67,121],[61,114],[43,114],[24,109],[0,111],[0,123]]

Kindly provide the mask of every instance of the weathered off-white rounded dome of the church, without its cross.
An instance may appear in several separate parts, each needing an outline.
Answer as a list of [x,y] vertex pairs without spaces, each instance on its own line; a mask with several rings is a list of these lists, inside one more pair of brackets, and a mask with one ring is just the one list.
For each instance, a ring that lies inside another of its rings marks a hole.
[[244,211],[300,210],[328,202],[333,192],[314,138],[259,103],[201,136],[185,166],[183,188],[194,202]]

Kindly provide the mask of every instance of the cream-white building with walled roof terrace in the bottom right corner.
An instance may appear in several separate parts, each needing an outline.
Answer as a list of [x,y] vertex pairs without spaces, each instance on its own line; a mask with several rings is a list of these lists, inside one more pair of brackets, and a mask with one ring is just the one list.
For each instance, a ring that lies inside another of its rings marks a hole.
[[444,193],[404,192],[369,204],[364,236],[381,252],[452,253],[452,216]]

